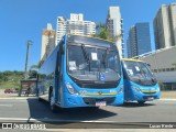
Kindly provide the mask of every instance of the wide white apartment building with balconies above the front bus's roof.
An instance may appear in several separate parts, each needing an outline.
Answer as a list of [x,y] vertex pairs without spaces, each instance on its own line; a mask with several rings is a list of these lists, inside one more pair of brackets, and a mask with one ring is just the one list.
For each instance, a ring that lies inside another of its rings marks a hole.
[[90,36],[96,34],[96,23],[84,21],[84,14],[70,13],[70,20],[57,18],[57,43],[66,33]]

